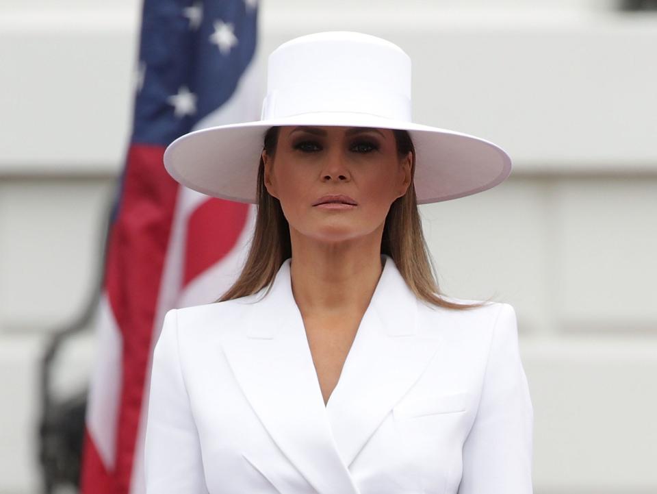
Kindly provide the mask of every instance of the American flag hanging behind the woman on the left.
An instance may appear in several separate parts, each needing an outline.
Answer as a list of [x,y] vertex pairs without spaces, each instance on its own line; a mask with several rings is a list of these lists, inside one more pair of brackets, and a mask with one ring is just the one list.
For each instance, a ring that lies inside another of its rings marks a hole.
[[162,156],[192,129],[257,119],[256,29],[257,0],[144,2],[133,133],[96,328],[83,494],[144,492],[146,393],[164,314],[218,299],[246,256],[253,208],[179,186]]

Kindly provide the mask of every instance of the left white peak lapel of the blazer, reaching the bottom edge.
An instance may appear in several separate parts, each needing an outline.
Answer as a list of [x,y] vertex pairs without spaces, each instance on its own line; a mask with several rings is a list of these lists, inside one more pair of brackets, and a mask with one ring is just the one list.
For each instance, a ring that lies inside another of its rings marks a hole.
[[320,494],[359,494],[326,416],[289,260],[250,311],[246,332],[223,343],[244,395],[272,439]]

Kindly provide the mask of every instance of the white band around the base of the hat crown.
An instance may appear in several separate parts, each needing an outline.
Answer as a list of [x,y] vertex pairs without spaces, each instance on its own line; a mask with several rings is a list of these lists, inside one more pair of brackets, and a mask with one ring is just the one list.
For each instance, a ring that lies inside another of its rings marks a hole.
[[376,88],[344,88],[341,91],[333,88],[319,95],[307,89],[271,90],[263,100],[261,120],[320,112],[365,113],[407,122],[412,118],[411,99],[405,95]]

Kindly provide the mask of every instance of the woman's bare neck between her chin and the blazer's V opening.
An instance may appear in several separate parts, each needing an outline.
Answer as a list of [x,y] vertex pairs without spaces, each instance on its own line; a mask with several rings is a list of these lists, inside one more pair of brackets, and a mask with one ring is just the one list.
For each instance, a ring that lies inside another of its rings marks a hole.
[[365,312],[381,277],[381,231],[326,243],[290,231],[290,276],[302,314]]

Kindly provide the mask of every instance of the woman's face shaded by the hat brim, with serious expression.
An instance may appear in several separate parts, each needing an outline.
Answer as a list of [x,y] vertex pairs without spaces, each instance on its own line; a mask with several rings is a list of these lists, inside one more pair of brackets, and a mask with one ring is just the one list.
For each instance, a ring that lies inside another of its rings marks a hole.
[[265,185],[293,230],[340,242],[383,232],[391,203],[411,182],[390,129],[281,127],[274,156],[263,153]]

